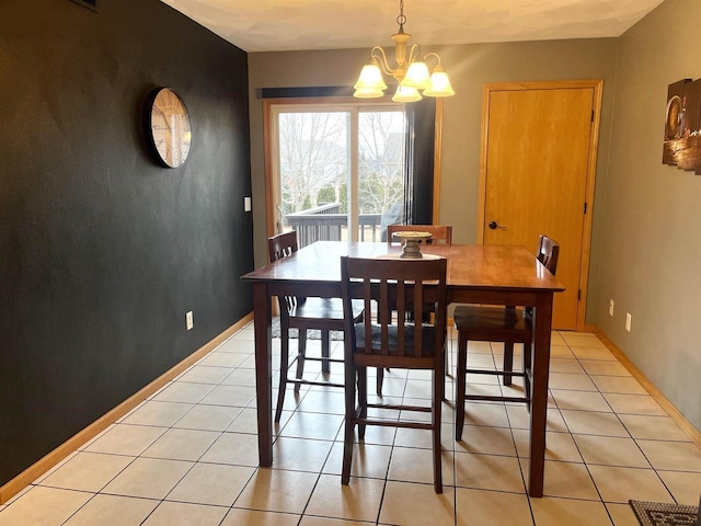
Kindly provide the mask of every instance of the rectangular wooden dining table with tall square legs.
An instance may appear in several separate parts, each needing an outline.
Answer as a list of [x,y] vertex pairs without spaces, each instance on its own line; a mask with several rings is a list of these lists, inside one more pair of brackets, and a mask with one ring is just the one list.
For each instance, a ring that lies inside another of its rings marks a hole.
[[[399,256],[401,250],[377,242],[318,241],[241,277],[253,286],[261,466],[273,465],[272,298],[341,297],[342,255]],[[528,492],[542,496],[552,304],[553,294],[564,287],[521,245],[426,244],[422,252],[448,260],[448,302],[533,307]]]

